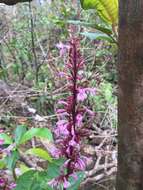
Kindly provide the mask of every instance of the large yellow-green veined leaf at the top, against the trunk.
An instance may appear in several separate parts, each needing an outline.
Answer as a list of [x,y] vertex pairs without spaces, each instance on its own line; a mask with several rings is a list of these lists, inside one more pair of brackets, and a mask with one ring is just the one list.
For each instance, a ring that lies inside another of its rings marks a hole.
[[98,15],[107,23],[118,23],[118,0],[80,0],[84,9],[96,9]]

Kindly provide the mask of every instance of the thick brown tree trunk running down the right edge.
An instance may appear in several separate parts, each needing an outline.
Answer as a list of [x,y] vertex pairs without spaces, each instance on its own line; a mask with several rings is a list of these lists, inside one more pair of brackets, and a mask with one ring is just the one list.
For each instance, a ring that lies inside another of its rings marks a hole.
[[143,190],[143,0],[119,0],[116,190]]

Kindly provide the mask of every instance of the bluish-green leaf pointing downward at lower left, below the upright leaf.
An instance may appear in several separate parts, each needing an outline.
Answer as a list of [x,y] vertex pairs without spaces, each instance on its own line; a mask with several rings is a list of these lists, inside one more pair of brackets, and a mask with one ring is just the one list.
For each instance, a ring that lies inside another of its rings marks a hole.
[[15,168],[16,162],[17,160],[20,158],[19,156],[19,152],[18,151],[13,151],[10,153],[10,155],[8,155],[5,160],[7,163],[7,168],[9,170],[13,170]]

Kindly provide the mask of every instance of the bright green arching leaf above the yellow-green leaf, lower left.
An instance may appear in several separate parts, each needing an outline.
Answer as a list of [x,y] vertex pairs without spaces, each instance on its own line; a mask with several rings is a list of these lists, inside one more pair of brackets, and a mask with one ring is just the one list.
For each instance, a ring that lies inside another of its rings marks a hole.
[[41,138],[47,138],[48,140],[53,140],[52,133],[49,129],[32,128],[23,135],[23,137],[20,141],[20,144],[23,144],[26,141],[31,140],[33,137],[41,137]]

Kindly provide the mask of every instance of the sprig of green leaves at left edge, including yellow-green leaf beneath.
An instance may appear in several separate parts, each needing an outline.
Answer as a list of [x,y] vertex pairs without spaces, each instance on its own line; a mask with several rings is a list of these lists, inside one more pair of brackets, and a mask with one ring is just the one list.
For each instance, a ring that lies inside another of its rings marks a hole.
[[[0,138],[4,139],[4,144],[10,145],[7,149],[7,156],[1,160],[0,168],[7,167],[9,170],[14,170],[17,161],[20,159],[20,145],[31,140],[33,137],[46,138],[53,140],[52,133],[47,128],[32,128],[27,131],[25,125],[18,125],[14,131],[13,140],[6,134],[0,134]],[[13,143],[14,142],[14,143]],[[44,160],[52,162],[51,156],[41,148],[31,148],[26,151],[26,154],[38,156]]]

